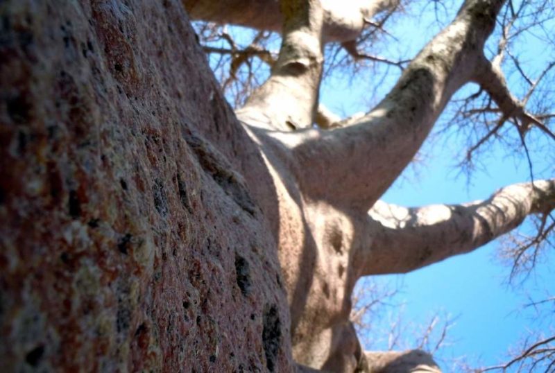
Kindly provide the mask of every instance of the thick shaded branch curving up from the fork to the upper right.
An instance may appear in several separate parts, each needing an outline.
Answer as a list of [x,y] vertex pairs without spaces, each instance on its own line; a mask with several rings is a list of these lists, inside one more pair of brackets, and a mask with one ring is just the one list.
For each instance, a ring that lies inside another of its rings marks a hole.
[[472,77],[502,2],[466,1],[358,124],[275,134],[293,149],[305,194],[369,209],[413,159],[452,94]]

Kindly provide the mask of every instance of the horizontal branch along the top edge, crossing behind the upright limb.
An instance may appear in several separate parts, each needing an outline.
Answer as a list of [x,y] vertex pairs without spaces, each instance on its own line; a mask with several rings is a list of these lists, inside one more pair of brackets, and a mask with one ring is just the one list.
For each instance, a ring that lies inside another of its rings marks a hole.
[[[221,24],[238,24],[259,30],[282,31],[283,17],[278,0],[183,0],[193,19]],[[398,6],[398,0],[323,0],[323,40],[355,40],[364,19]]]

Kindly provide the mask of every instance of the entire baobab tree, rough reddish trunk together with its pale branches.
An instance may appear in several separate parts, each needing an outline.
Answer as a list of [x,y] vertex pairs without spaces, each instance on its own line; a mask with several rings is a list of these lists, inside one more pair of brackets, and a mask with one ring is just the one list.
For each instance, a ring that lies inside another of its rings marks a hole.
[[[532,214],[545,238],[555,180],[463,205],[379,198],[466,83],[480,87],[470,101],[490,98],[477,113],[498,118],[484,141],[504,125],[553,137],[551,115],[511,94],[503,39],[486,57],[499,18],[509,33],[520,16],[502,0],[463,1],[410,62],[382,61],[403,70],[382,101],[330,115],[318,105],[325,45],[379,60],[357,38],[398,6],[3,3],[1,364],[437,371],[420,351],[361,350],[349,320],[357,279],[470,252]],[[185,10],[282,36],[270,76],[234,112]]]

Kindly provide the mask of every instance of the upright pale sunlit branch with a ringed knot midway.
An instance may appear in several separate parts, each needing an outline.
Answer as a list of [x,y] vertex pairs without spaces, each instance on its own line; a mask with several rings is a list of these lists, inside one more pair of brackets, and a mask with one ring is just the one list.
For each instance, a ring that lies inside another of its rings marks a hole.
[[310,127],[322,74],[319,1],[282,0],[283,41],[270,78],[237,110],[239,120],[271,130]]

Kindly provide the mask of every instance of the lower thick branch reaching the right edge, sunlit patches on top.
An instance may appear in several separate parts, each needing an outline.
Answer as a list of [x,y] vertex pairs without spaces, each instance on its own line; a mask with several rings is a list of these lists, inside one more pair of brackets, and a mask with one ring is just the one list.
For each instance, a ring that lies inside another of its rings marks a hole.
[[377,202],[368,214],[362,275],[409,272],[479,248],[555,208],[555,179],[513,184],[488,200],[406,208]]

